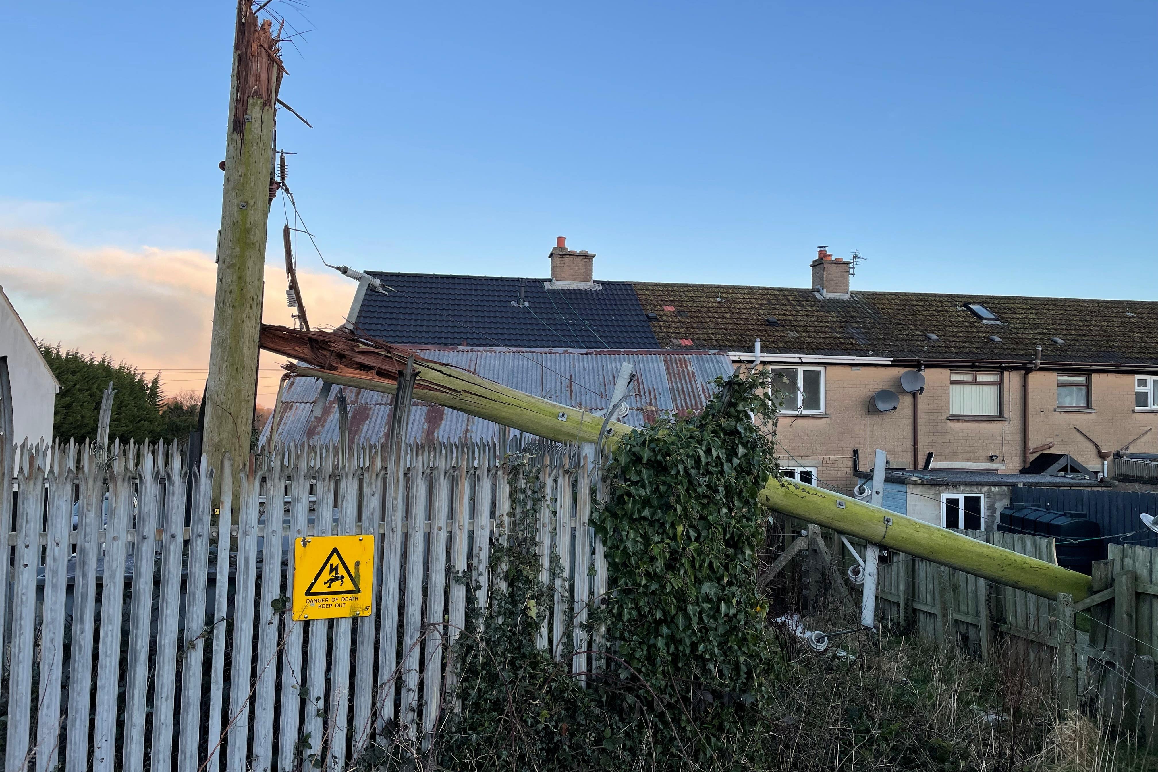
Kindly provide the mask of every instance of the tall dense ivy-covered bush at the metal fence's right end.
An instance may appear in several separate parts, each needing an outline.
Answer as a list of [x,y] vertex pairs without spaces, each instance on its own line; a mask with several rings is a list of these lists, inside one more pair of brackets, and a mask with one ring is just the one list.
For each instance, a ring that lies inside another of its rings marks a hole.
[[[595,516],[613,593],[603,617],[608,670],[646,682],[645,709],[665,709],[670,766],[742,769],[776,660],[756,589],[767,513],[756,494],[776,473],[775,419],[761,376],[720,380],[703,413],[625,438]],[[661,765],[665,766],[665,765]]]

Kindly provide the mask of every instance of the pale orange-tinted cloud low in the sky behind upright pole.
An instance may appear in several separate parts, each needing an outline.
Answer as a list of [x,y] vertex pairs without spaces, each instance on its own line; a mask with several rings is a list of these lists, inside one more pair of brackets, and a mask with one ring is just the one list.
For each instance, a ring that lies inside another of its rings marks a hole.
[[[0,228],[0,286],[34,337],[160,372],[169,394],[205,384],[215,279],[199,250],[86,248],[49,228]],[[312,324],[340,324],[354,284],[314,271],[299,281]],[[293,324],[285,291],[284,267],[266,265],[266,322]],[[272,403],[280,361],[262,356],[259,403]]]

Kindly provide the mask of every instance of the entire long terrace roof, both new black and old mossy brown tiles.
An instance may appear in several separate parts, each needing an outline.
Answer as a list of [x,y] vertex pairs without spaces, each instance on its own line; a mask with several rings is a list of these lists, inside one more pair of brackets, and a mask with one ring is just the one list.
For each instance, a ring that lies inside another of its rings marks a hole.
[[[1031,362],[1040,344],[1047,363],[1158,365],[1158,302],[902,292],[837,300],[787,287],[545,289],[545,279],[533,278],[373,275],[395,292],[368,293],[358,324],[402,345],[749,352],[760,338],[765,353]],[[985,324],[966,303],[1001,324]]]

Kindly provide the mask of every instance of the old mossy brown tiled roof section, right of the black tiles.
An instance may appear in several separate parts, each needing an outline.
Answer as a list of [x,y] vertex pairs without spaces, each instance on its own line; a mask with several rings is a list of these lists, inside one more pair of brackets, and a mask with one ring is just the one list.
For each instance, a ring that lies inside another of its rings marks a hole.
[[[822,300],[784,287],[632,286],[657,315],[652,329],[665,347],[688,347],[682,339],[749,352],[760,338],[767,353],[1028,362],[1041,344],[1046,362],[1158,363],[1158,302],[902,292]],[[1002,324],[984,324],[966,303],[983,304]]]

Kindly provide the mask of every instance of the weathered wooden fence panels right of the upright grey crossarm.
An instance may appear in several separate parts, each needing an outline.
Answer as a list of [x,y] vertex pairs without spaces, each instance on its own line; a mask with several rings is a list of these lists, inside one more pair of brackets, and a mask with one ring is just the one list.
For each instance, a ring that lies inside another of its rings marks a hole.
[[[1051,538],[963,532],[1057,563]],[[999,659],[1054,690],[1063,707],[1141,730],[1158,745],[1158,550],[1111,544],[1108,552],[1093,564],[1094,594],[1078,603],[894,553],[880,567],[880,618],[961,654]]]

